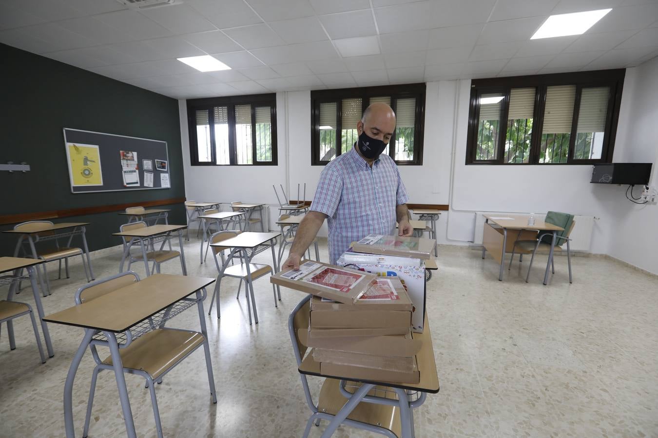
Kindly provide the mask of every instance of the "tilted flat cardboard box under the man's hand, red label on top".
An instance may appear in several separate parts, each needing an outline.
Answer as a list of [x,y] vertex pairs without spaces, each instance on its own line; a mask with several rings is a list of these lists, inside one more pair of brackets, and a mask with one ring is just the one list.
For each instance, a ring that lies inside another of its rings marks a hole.
[[328,263],[303,260],[299,270],[270,276],[272,284],[339,301],[355,303],[376,282],[376,276]]

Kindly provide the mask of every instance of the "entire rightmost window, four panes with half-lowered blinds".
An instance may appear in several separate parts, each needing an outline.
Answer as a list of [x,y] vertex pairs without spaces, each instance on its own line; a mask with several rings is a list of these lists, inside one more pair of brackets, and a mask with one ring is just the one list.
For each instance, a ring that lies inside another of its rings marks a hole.
[[472,81],[467,164],[611,162],[624,70]]

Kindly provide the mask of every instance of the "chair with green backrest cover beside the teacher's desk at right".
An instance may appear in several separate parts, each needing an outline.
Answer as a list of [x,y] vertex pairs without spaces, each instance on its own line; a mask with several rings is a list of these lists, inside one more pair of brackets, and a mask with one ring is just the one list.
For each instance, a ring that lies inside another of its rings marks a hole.
[[[574,215],[570,215],[568,213],[557,213],[556,211],[549,211],[546,215],[546,219],[544,219],[545,223],[551,223],[553,225],[558,225],[559,227],[564,228],[564,230],[557,232],[555,236],[555,248],[553,248],[553,252],[562,252],[562,246],[565,244],[565,242],[567,243],[569,283],[573,282],[573,278],[571,276],[571,248],[569,247],[569,242],[571,241],[569,236],[571,231],[574,229],[574,226],[576,225],[576,221],[574,221],[573,217]],[[526,253],[532,252],[532,257],[530,257],[530,265],[528,265],[528,274],[526,274],[527,283],[530,278],[530,269],[532,268],[532,261],[534,260],[535,254],[549,254],[551,252],[551,240],[553,240],[552,232],[541,232],[538,234],[537,240],[517,240],[517,242],[514,242],[514,246],[512,247],[512,258],[509,261],[508,270],[512,269],[512,261],[514,259],[514,252],[516,248],[520,248],[520,250]],[[555,257],[546,262],[551,263],[551,271],[553,271],[553,274],[555,274],[554,259]],[[521,259],[519,258],[519,262],[520,261]]]

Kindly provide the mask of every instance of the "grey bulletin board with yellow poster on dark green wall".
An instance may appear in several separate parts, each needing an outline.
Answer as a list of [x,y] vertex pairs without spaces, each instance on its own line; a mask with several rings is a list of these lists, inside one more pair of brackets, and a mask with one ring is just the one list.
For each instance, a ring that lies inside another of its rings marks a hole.
[[170,188],[166,141],[64,128],[72,193]]

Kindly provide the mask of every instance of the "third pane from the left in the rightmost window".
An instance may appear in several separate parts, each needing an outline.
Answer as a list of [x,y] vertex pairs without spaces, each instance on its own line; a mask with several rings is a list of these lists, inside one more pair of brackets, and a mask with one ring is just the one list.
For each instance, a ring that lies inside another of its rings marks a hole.
[[567,162],[575,100],[576,85],[547,87],[540,163]]

